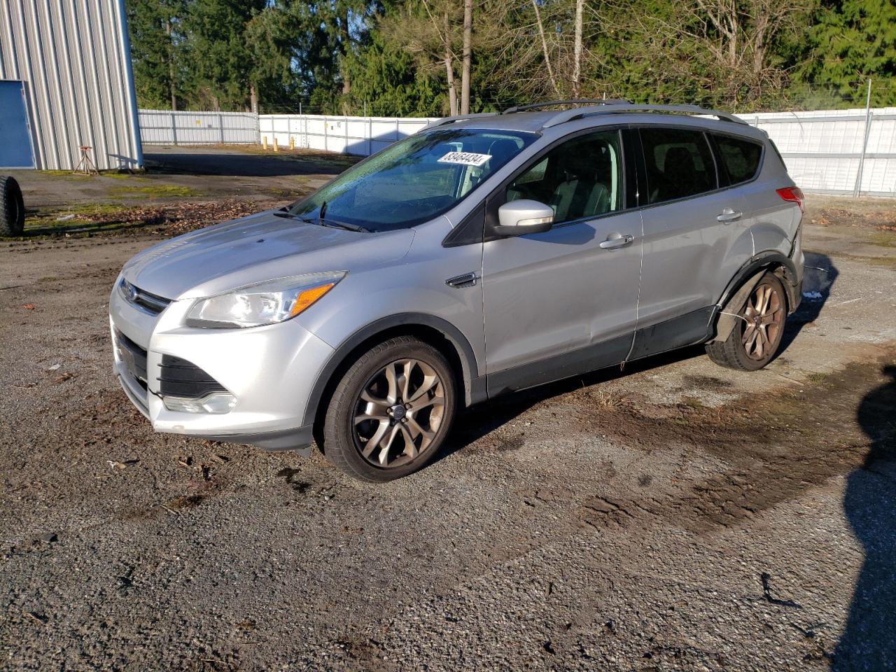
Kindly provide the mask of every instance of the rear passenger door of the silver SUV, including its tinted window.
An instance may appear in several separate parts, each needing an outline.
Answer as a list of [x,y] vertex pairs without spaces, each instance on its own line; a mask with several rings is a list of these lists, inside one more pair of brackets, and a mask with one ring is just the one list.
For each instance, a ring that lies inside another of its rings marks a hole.
[[650,125],[639,136],[644,258],[633,358],[702,340],[719,294],[753,255],[747,204],[724,188],[726,175],[719,181],[708,134]]

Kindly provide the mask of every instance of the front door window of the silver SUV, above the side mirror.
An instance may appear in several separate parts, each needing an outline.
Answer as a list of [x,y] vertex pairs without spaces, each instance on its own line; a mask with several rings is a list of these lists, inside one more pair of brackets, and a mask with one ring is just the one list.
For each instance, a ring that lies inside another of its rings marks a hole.
[[548,151],[507,187],[507,201],[550,205],[554,221],[582,220],[620,210],[622,144],[618,131],[580,135]]

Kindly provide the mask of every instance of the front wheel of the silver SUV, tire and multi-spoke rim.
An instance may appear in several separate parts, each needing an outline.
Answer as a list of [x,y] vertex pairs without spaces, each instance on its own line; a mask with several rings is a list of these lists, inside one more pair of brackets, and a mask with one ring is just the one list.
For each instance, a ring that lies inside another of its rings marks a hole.
[[456,407],[454,374],[441,352],[410,336],[386,340],[336,385],[323,418],[323,454],[361,480],[407,476],[435,457]]

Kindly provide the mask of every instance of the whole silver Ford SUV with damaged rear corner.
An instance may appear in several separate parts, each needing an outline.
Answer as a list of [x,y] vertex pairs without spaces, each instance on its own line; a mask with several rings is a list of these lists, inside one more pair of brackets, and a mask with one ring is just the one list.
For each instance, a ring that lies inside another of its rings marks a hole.
[[504,392],[695,343],[765,366],[803,277],[803,194],[767,135],[557,107],[442,119],[289,208],[137,254],[109,304],[127,396],[158,432],[316,439],[384,481]]

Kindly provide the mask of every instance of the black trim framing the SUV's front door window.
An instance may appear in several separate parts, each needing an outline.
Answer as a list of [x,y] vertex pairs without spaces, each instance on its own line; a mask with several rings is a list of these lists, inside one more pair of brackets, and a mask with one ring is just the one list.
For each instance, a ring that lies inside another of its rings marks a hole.
[[[538,165],[538,162],[541,159],[544,159],[548,152],[556,149],[559,145],[564,142],[568,142],[570,140],[574,140],[577,137],[581,137],[582,135],[590,135],[596,133],[608,133],[611,131],[616,131],[619,134],[619,143],[622,147],[621,157],[622,160],[622,170],[620,174],[622,175],[622,189],[623,189],[623,198],[622,201],[624,203],[624,207],[619,210],[605,212],[604,214],[597,215],[594,217],[582,217],[578,220],[569,220],[564,221],[560,224],[556,224],[554,228],[564,228],[567,226],[572,226],[574,224],[582,224],[583,222],[595,221],[595,220],[603,220],[607,217],[615,217],[616,215],[623,214],[625,212],[637,211],[638,210],[638,202],[637,202],[637,194],[639,192],[640,187],[640,176],[638,175],[638,164],[637,158],[634,153],[634,142],[631,138],[631,129],[630,125],[627,124],[613,124],[613,125],[596,125],[590,126],[589,128],[582,128],[578,131],[574,131],[571,134],[566,134],[563,137],[557,138],[554,142],[551,142],[547,146],[543,147],[541,151],[538,152],[534,157],[529,159],[525,164],[522,165],[521,168],[515,170],[513,174],[509,177],[504,178],[501,184],[495,186],[492,191],[490,191],[474,208],[470,213],[458,224],[456,227],[452,228],[451,232],[444,237],[442,241],[443,247],[458,247],[464,245],[476,245],[478,243],[487,243],[492,240],[499,240],[504,238],[504,236],[495,236],[494,234],[487,234],[487,228],[489,224],[489,214],[494,208],[494,212],[496,216],[497,208],[493,205],[493,201],[496,198],[505,196],[507,187],[513,182],[514,179],[520,177],[523,173],[530,168],[534,168]],[[634,188],[633,188],[634,187]],[[506,202],[506,201],[504,201]],[[497,207],[503,205],[504,202],[501,202]]]

